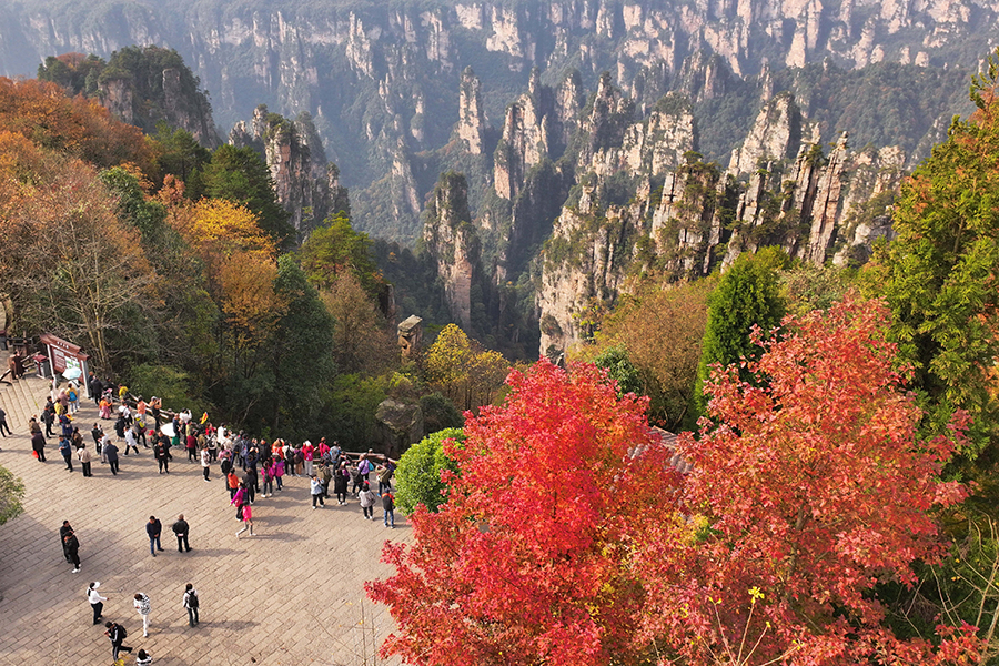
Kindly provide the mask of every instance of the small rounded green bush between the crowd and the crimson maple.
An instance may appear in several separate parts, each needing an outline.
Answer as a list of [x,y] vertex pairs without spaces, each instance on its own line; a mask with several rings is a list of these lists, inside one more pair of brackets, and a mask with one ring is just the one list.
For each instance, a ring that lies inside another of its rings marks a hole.
[[411,446],[400,458],[395,472],[398,481],[395,503],[406,515],[412,514],[420,504],[436,512],[446,502],[447,486],[441,481],[441,471],[458,470],[454,460],[444,453],[444,440],[464,442],[465,435],[457,427],[437,431]]

